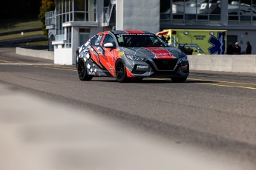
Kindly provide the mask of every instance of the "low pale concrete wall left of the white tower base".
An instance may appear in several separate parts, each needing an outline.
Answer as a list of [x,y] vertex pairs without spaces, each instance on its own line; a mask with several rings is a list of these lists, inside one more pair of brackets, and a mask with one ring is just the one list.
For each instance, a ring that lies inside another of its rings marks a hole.
[[36,57],[36,58],[45,58],[49,60],[54,59],[54,52],[46,51],[46,50],[30,50],[30,49],[16,47],[16,54]]

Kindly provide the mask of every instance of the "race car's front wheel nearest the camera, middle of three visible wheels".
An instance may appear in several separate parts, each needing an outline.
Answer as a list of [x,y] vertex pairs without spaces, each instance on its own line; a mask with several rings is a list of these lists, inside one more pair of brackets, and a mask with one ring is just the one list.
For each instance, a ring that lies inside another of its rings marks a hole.
[[122,59],[116,61],[116,81],[119,83],[128,81],[125,62]]

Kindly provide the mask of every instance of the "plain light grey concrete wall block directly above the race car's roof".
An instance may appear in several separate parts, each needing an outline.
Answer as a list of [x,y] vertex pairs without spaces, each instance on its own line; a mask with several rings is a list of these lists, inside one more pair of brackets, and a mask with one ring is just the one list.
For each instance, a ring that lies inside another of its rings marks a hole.
[[116,30],[160,29],[160,0],[116,1]]

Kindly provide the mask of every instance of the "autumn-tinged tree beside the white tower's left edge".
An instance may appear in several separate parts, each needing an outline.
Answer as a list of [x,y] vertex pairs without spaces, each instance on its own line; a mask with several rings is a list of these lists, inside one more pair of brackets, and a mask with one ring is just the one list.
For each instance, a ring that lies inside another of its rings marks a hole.
[[48,31],[45,29],[45,13],[52,11],[55,8],[54,0],[42,0],[42,6],[40,7],[39,20],[42,22],[42,29],[45,36],[48,36]]

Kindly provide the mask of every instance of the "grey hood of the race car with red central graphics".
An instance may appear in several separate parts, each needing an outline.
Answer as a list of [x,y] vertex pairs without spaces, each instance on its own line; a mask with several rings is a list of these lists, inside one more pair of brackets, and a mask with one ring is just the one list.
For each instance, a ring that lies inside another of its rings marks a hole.
[[185,56],[175,47],[122,47],[126,55],[135,55],[143,58],[175,59]]

